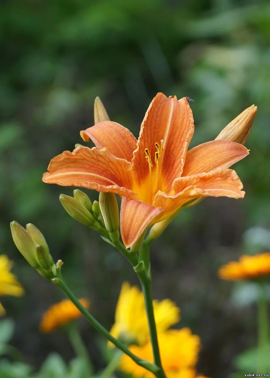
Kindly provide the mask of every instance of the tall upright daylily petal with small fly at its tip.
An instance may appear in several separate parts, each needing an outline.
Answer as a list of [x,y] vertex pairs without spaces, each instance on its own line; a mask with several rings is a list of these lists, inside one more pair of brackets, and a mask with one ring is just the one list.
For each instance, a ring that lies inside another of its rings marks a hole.
[[[179,101],[158,93],[151,102],[141,124],[137,149],[133,153],[132,169],[137,181],[144,181],[149,174],[145,160],[145,149],[149,150],[151,160],[155,161],[155,143],[163,143],[162,170],[164,189],[172,185],[174,178],[182,173],[186,150],[194,131],[193,116],[186,98]],[[171,187],[170,187],[171,189]]]

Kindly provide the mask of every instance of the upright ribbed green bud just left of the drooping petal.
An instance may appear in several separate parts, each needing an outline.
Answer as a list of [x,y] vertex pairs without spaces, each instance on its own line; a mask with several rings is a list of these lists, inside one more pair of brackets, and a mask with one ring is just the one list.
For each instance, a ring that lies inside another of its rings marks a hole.
[[99,193],[101,214],[110,238],[113,242],[119,240],[119,211],[114,193]]

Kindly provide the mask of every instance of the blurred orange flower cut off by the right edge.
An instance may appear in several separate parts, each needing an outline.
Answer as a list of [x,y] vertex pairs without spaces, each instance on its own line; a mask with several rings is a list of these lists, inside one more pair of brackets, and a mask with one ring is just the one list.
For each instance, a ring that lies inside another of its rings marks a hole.
[[270,252],[254,256],[243,255],[239,261],[231,261],[219,268],[223,280],[254,279],[270,274]]

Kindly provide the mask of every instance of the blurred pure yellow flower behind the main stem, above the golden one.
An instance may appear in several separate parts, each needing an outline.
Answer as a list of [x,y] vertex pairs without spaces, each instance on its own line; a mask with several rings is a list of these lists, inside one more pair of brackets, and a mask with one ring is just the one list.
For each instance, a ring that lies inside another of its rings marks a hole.
[[[154,300],[153,305],[158,332],[166,331],[180,321],[180,309],[170,299],[161,302]],[[115,311],[115,324],[110,333],[115,338],[139,345],[149,340],[143,293],[137,286],[123,283]]]

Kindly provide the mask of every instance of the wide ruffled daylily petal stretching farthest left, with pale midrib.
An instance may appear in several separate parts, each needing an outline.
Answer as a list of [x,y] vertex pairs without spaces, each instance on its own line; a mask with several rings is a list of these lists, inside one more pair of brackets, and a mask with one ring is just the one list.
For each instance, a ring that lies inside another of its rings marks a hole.
[[79,146],[54,157],[43,174],[48,184],[81,186],[99,192],[114,192],[137,199],[132,189],[131,163],[116,158],[106,148]]

